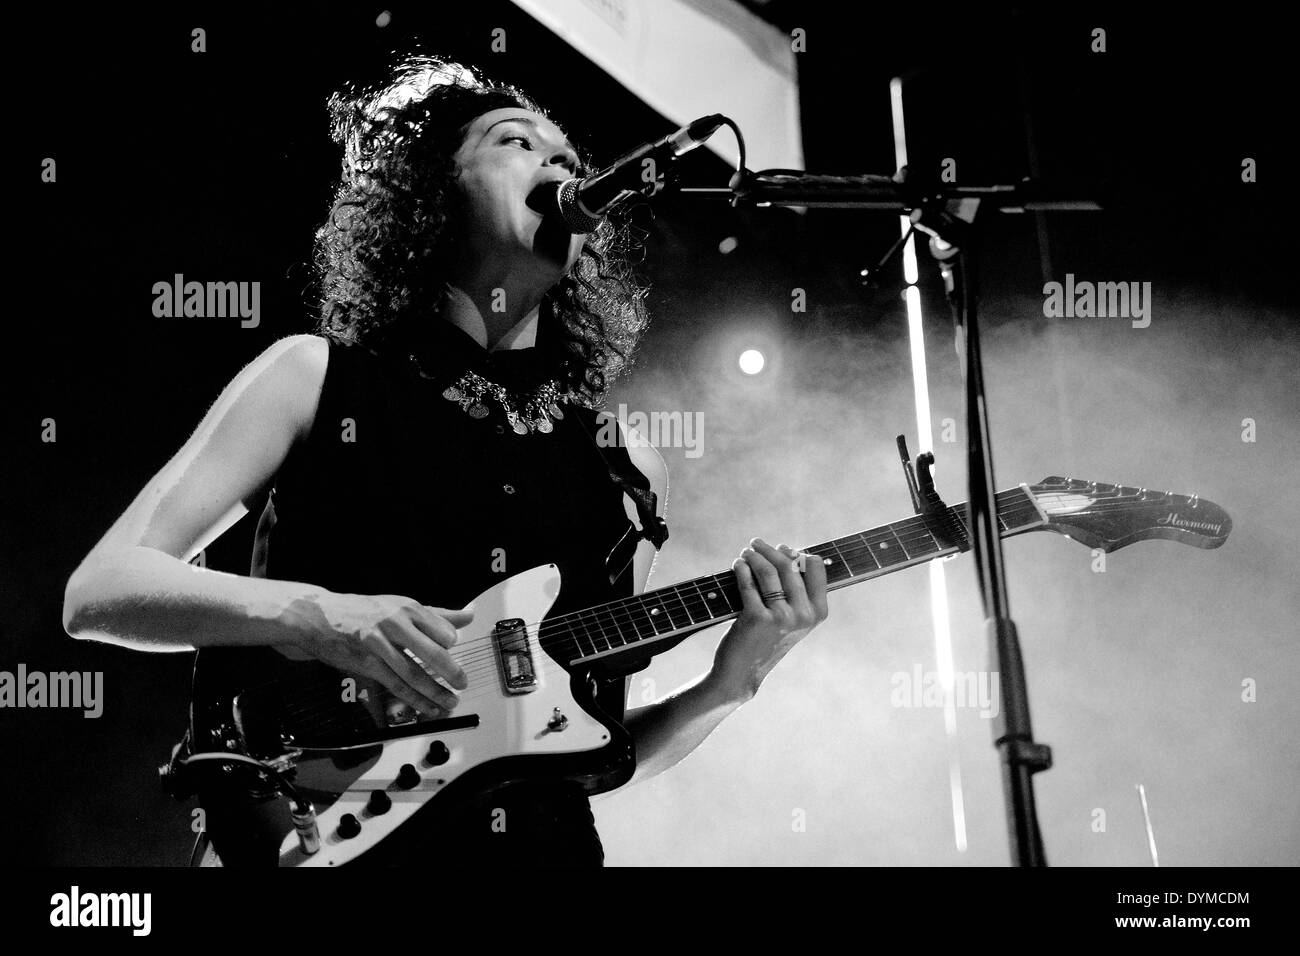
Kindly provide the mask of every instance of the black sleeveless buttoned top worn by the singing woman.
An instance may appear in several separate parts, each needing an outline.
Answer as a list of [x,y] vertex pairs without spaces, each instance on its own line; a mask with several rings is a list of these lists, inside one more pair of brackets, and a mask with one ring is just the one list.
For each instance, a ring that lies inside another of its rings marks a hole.
[[[555,377],[555,354],[545,343],[489,352],[443,320],[415,350],[417,362],[410,349],[381,356],[330,342],[315,424],[276,479],[266,576],[455,609],[554,562],[563,587],[551,614],[629,596],[630,571],[611,583],[607,567],[629,531],[636,537],[610,455],[630,464],[625,447],[594,442],[595,411],[564,403],[551,433],[516,434],[498,406],[474,419],[442,395],[465,371],[530,392]],[[598,693],[620,721],[625,691],[618,676]],[[493,827],[498,808],[504,832]],[[563,782],[515,784],[441,816],[437,832],[420,832],[419,817],[411,829],[385,842],[400,838],[403,862],[422,853],[458,865],[601,865],[604,856],[586,796]]]

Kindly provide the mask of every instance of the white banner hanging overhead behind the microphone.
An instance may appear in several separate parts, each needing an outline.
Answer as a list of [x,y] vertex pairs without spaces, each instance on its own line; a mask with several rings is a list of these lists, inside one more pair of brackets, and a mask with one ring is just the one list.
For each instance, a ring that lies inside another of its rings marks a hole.
[[[725,113],[750,169],[802,169],[792,39],[732,0],[514,0],[679,124]],[[736,163],[734,139],[708,140]]]

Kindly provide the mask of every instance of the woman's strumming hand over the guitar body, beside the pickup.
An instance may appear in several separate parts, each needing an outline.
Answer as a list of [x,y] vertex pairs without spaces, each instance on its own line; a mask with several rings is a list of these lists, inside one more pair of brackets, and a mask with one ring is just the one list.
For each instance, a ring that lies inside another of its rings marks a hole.
[[282,654],[369,678],[428,717],[445,717],[460,700],[434,678],[458,691],[468,687],[447,652],[473,611],[430,607],[399,594],[326,592],[294,601],[285,617],[295,637],[273,645]]

